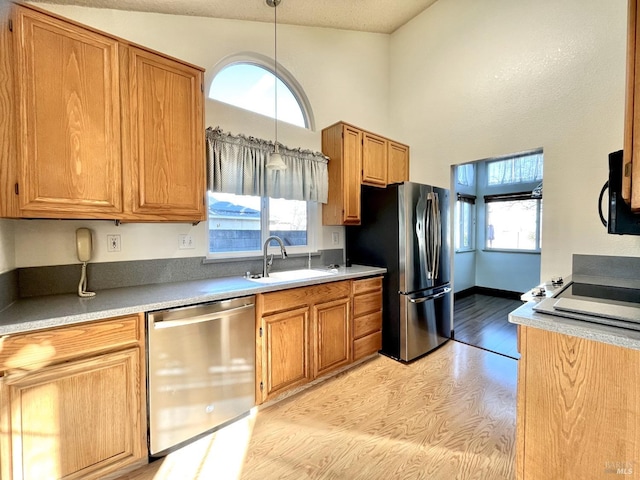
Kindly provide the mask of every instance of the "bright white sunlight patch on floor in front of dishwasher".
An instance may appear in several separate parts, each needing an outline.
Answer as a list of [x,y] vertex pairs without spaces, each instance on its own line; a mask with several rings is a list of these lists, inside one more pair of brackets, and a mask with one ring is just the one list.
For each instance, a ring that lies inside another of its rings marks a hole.
[[167,455],[153,480],[236,480],[251,440],[257,409],[230,425]]

